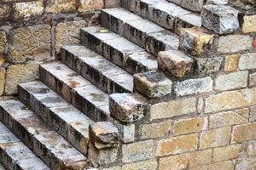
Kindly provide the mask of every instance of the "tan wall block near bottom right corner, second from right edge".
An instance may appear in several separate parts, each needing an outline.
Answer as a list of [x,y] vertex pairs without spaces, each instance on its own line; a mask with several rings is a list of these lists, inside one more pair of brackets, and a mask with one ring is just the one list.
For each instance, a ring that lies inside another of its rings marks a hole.
[[233,144],[229,146],[214,148],[212,161],[228,161],[236,159],[242,150],[242,144]]

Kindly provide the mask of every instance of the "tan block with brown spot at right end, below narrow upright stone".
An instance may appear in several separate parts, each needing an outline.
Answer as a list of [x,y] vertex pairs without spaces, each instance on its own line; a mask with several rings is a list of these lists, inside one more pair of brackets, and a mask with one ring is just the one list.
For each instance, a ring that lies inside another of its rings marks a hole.
[[196,133],[207,128],[207,117],[195,117],[174,122],[173,135]]

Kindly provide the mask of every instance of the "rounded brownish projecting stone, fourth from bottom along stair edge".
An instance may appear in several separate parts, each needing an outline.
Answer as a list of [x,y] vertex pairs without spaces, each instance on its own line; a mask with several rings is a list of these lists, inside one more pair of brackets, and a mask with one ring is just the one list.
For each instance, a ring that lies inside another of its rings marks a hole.
[[175,77],[185,77],[192,70],[193,59],[178,50],[161,51],[157,59],[159,68]]

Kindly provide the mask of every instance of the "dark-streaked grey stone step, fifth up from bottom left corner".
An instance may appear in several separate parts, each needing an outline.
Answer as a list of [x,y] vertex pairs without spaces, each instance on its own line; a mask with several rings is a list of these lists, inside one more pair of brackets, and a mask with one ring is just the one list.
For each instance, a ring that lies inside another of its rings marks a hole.
[[131,74],[88,48],[65,46],[61,48],[61,60],[107,94],[131,93],[133,90]]

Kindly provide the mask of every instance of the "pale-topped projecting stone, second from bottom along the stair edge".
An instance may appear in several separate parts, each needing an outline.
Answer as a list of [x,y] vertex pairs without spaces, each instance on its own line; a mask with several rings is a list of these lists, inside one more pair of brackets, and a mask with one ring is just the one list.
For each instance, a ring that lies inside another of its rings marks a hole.
[[111,94],[109,111],[120,122],[134,122],[144,116],[145,100],[138,94]]

